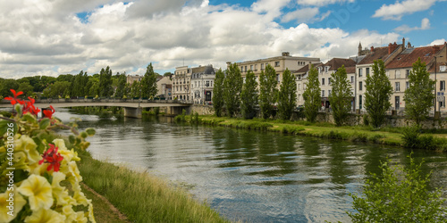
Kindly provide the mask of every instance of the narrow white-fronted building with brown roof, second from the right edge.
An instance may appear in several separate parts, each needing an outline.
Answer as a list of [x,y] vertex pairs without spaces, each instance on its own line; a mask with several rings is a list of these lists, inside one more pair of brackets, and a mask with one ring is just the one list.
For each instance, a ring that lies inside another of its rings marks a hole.
[[[350,81],[355,82],[354,97],[355,97],[355,109],[364,110],[365,104],[365,93],[366,93],[366,80],[367,76],[372,72],[372,67],[375,61],[382,60],[386,66],[388,63],[392,62],[392,59],[398,54],[401,54],[404,49],[405,38],[402,39],[402,45],[389,44],[383,47],[371,46],[370,50],[360,51],[358,49],[358,56],[363,56],[360,62],[356,65],[356,71],[354,76],[350,76]],[[361,45],[359,45],[361,46]],[[410,44],[409,44],[410,46]]]

